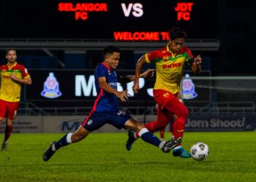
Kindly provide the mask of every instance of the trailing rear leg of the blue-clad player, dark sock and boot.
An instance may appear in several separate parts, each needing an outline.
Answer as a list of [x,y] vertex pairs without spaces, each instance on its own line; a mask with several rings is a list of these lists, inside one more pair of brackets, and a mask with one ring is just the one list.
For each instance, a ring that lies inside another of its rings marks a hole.
[[64,135],[59,141],[53,141],[50,143],[50,146],[44,154],[42,155],[42,159],[46,162],[50,159],[50,157],[53,156],[53,154],[60,149],[61,147],[69,145],[69,143],[76,143],[78,141],[83,140],[83,138],[86,138],[87,135],[89,135],[89,131],[87,131],[84,127],[79,127],[78,130],[74,133],[67,133]]

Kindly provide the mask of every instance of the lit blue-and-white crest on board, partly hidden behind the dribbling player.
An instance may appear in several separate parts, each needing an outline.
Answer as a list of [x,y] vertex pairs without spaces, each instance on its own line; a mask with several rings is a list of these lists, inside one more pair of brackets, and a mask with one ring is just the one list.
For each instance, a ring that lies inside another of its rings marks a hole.
[[192,79],[189,78],[189,74],[186,74],[185,79],[182,81],[182,97],[184,99],[193,99],[197,97],[195,84],[192,82]]

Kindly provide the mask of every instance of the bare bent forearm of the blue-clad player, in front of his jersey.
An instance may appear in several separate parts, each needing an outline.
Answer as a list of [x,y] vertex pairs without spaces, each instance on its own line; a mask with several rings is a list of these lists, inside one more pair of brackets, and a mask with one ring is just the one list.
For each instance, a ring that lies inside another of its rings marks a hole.
[[98,82],[99,82],[99,87],[102,88],[105,92],[113,93],[113,94],[116,95],[116,97],[119,98],[122,102],[125,102],[125,101],[128,100],[128,93],[127,93],[127,90],[118,92],[117,90],[113,89],[113,87],[111,87],[111,86],[107,83],[106,77],[104,77],[104,76],[99,77]]

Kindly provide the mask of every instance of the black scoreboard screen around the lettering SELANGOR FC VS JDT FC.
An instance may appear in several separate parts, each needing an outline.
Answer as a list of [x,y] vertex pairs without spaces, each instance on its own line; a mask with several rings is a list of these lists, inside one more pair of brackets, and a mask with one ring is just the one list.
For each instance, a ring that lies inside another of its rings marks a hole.
[[[108,12],[88,12],[88,20],[75,20],[75,12],[59,12],[60,2],[107,3]],[[2,0],[0,37],[113,39],[113,31],[167,31],[172,26],[187,30],[189,39],[218,37],[218,1],[192,1],[191,21],[180,22],[174,10],[177,2],[190,1]],[[125,17],[121,3],[143,4],[143,16]],[[190,31],[193,28],[196,31]]]

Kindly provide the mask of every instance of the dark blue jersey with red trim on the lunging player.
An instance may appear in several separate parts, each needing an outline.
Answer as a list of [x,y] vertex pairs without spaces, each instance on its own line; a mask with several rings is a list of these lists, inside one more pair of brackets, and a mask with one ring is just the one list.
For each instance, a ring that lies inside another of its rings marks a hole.
[[94,102],[94,107],[92,111],[118,111],[119,106],[116,95],[114,95],[113,93],[105,92],[104,90],[102,90],[102,88],[99,87],[99,77],[105,77],[106,82],[110,85],[110,87],[113,87],[113,89],[117,90],[116,71],[111,69],[105,63],[99,63],[94,73],[95,87],[97,90],[97,99]]

